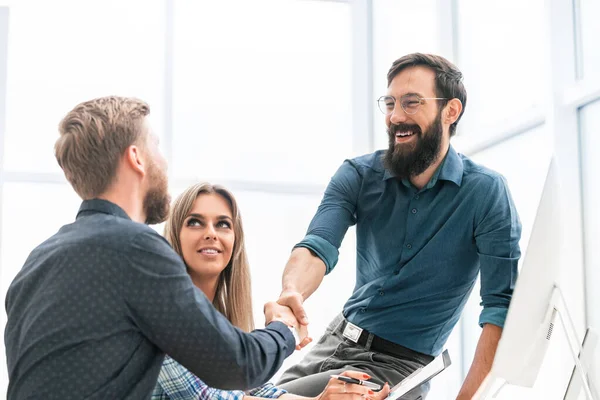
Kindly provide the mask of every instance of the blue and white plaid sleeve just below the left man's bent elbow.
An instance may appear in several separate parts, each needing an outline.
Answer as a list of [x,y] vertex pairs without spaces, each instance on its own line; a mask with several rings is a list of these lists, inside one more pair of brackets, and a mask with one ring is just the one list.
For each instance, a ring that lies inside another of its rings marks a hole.
[[158,374],[152,400],[242,400],[241,390],[214,389],[185,367],[166,356]]

